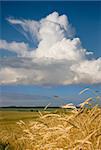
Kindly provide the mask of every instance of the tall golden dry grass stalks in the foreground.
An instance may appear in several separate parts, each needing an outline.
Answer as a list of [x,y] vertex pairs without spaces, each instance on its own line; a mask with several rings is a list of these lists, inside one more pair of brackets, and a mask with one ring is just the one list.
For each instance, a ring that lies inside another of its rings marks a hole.
[[17,122],[17,133],[2,131],[2,143],[14,150],[101,150],[101,109],[82,108],[46,114],[38,121]]

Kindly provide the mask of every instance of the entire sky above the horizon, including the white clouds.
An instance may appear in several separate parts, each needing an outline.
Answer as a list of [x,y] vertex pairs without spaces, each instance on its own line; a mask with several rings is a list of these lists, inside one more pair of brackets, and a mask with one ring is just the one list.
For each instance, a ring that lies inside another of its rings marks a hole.
[[101,2],[5,1],[0,20],[1,106],[101,95]]

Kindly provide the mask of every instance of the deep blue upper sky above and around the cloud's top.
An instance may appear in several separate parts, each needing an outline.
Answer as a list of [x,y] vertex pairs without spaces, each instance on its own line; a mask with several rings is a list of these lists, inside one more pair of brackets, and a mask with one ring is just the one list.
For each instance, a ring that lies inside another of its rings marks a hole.
[[[39,20],[51,12],[66,14],[85,48],[101,56],[101,2],[2,2],[2,38],[26,40],[7,22],[7,17]],[[6,10],[6,11],[5,11]],[[1,27],[0,27],[1,28]],[[12,33],[12,34],[11,34]]]

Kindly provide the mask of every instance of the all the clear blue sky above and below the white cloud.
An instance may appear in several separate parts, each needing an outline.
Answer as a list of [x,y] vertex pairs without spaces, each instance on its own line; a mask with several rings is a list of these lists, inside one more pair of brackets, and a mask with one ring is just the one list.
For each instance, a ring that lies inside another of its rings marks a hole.
[[[1,3],[1,24],[0,39],[7,42],[28,42],[27,39],[18,32],[17,28],[11,25],[7,18],[30,19],[39,21],[52,12],[58,12],[59,15],[65,14],[69,18],[70,24],[75,28],[75,37],[79,37],[82,45],[88,51],[94,52],[94,59],[101,56],[101,2],[2,2]],[[33,43],[29,42],[32,47]],[[16,57],[15,52],[1,49],[1,61],[6,58]],[[6,60],[7,60],[6,59]],[[5,61],[5,60],[4,60]],[[14,63],[11,61],[11,63]],[[2,64],[3,65],[3,64]],[[13,64],[10,64],[10,66]],[[1,66],[2,67],[2,66]],[[19,67],[20,68],[20,67]],[[67,102],[78,104],[89,96],[91,92],[86,92],[79,96],[78,93],[90,87],[95,91],[101,91],[101,83],[77,83],[71,85],[23,85],[23,83],[0,85],[1,105],[24,105],[38,106],[47,105],[49,102],[53,106],[61,105]],[[100,94],[100,93],[99,93]],[[60,99],[55,100],[54,95],[59,95]]]

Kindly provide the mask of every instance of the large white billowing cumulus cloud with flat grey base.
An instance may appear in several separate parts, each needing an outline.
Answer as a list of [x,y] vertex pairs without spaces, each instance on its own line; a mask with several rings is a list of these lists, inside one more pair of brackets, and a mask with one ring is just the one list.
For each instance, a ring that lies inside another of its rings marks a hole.
[[93,53],[83,48],[80,38],[74,37],[74,28],[66,15],[53,12],[39,21],[7,20],[20,28],[28,43],[0,40],[1,49],[17,54],[13,61],[1,61],[0,83],[101,83],[101,58],[94,59]]

